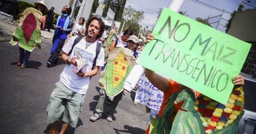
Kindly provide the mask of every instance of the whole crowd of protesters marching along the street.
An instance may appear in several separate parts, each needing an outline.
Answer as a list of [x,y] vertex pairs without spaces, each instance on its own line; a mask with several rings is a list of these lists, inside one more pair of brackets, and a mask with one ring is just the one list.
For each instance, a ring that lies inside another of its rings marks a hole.
[[[35,30],[37,28],[40,30],[47,29],[50,32],[49,29],[54,18],[54,7],[48,10],[43,0],[34,3],[34,5],[36,10],[29,11],[29,9],[25,9],[25,11],[21,14],[22,21],[20,23],[27,26],[34,25]],[[62,14],[59,15],[56,24],[54,24],[55,31],[52,42],[53,45],[50,51],[49,59],[46,61],[47,67],[53,67],[53,65],[58,62],[61,51],[63,52],[61,53],[60,59],[65,62],[66,65],[60,74],[59,82],[55,83],[55,88],[50,95],[49,104],[46,111],[47,123],[51,124],[51,127],[44,134],[64,134],[68,125],[74,128],[76,127],[79,114],[83,107],[86,92],[89,88],[90,78],[96,75],[100,69],[101,77],[104,76],[108,62],[105,60],[106,52],[108,53],[117,47],[122,47],[132,53],[130,60],[136,61],[136,58],[146,46],[143,44],[143,40],[135,36],[133,31],[130,29],[125,30],[121,35],[118,35],[117,31],[114,29],[110,30],[110,33],[107,32],[105,30],[103,20],[96,16],[89,18],[86,22],[85,19],[81,17],[79,18],[78,23],[75,23],[74,19],[69,17],[71,11],[71,7],[65,5],[62,8]],[[43,15],[46,12],[47,18],[45,18]],[[36,17],[32,18],[30,16],[31,13]],[[23,30],[23,32],[28,32],[30,30],[31,29]],[[30,33],[33,33],[34,31],[30,31]],[[40,31],[36,32],[40,33]],[[21,69],[26,68],[30,53],[33,51],[35,46],[40,47],[41,40],[38,36],[40,36],[40,34],[34,35],[33,33],[31,36],[27,36],[25,34],[24,37],[20,36],[19,34],[14,34],[14,37],[10,43],[12,45],[17,43],[19,44],[20,57],[17,65],[20,66]],[[110,43],[107,42],[109,37]],[[154,36],[149,34],[146,43],[151,42],[153,39]],[[103,47],[106,47],[105,49],[107,50],[104,50]],[[77,66],[79,64],[79,55],[85,57],[86,63],[81,67],[81,69],[78,70]],[[172,81],[171,79],[162,77],[150,69],[145,69],[145,75],[155,87],[164,92],[163,102],[166,102],[174,92],[180,92],[184,89],[189,89],[194,92],[196,98],[200,96],[199,92],[187,88],[182,84]],[[244,79],[241,75],[238,75],[233,78],[233,83],[235,86],[242,86],[244,84]],[[99,93],[100,98],[93,116],[90,117],[91,121],[98,120],[104,111],[103,107],[106,102],[105,98],[107,97],[107,94],[104,88],[101,88]],[[108,121],[113,121],[113,113],[122,96],[123,91],[120,91],[112,98],[112,101],[109,102],[110,104],[106,110],[106,119]],[[183,103],[178,103],[173,107],[175,114],[177,111],[182,110],[182,104]],[[165,106],[166,104],[163,104],[160,111],[155,112],[155,114],[158,113],[158,116],[162,116],[162,111],[164,110]],[[57,121],[62,114],[63,124],[61,129],[58,130]],[[146,134],[150,133],[149,129],[150,125],[146,131]]]

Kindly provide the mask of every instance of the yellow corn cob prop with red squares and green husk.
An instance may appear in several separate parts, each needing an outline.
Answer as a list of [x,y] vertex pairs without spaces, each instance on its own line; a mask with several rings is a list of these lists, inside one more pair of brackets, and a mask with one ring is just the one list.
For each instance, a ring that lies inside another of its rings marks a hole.
[[132,56],[133,52],[123,47],[115,47],[109,52],[105,73],[99,82],[109,97],[123,91],[123,83],[135,64],[135,61],[131,61]]

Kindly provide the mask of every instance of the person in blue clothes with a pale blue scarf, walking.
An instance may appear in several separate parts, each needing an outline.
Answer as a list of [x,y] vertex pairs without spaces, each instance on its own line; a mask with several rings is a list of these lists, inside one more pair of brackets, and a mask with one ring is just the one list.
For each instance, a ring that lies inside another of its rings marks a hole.
[[54,26],[53,46],[51,49],[51,56],[47,61],[48,68],[58,62],[59,52],[67,39],[67,35],[72,31],[73,23],[71,18],[69,18],[71,11],[71,7],[65,5],[62,8],[62,14],[59,15],[57,19],[56,26]]

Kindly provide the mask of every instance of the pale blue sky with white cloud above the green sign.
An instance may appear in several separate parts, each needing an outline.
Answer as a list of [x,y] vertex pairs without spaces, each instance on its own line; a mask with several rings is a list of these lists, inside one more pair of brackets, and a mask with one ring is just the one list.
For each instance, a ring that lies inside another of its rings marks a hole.
[[[182,7],[179,11],[186,12],[187,17],[195,19],[200,18],[209,18],[218,16],[222,14],[224,10],[220,24],[225,25],[226,20],[230,18],[230,14],[237,9],[238,5],[242,0],[184,0]],[[149,26],[153,28],[154,23],[156,23],[158,17],[158,11],[160,8],[169,7],[172,0],[127,0],[125,7],[131,6],[132,8],[137,9],[138,11],[144,11],[145,19],[143,22],[140,22],[143,26]],[[209,7],[206,7],[207,4]],[[216,10],[213,7],[219,9]],[[219,18],[212,18],[212,22],[220,20]],[[224,26],[219,25],[218,30],[224,32]],[[217,27],[217,23],[212,24],[213,27]]]

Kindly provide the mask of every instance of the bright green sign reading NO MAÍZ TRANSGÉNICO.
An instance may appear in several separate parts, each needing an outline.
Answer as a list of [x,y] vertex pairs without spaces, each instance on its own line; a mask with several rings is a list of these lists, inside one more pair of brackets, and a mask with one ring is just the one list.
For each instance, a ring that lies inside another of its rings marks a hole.
[[137,63],[226,104],[251,44],[163,9]]

